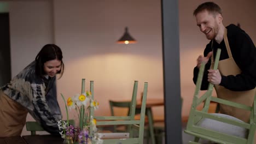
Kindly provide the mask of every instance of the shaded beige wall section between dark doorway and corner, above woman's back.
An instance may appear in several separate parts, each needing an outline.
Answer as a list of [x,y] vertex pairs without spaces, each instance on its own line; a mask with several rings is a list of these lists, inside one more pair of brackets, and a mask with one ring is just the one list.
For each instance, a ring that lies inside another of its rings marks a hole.
[[[51,1],[8,2],[12,77],[36,58],[43,45],[54,43],[52,5]],[[27,115],[27,121],[34,119]],[[24,127],[22,135],[27,134]]]

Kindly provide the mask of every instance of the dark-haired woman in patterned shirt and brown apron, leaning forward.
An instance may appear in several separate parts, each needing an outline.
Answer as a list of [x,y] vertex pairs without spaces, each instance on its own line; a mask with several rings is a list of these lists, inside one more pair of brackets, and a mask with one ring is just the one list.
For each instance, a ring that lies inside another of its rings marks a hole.
[[56,98],[56,74],[63,74],[60,47],[45,45],[36,60],[0,88],[0,137],[19,136],[29,112],[51,134],[62,119]]

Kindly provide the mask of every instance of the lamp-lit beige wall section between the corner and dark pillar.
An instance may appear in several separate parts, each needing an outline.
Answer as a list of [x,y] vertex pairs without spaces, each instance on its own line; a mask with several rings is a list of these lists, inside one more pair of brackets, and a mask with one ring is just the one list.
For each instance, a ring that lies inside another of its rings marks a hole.
[[[163,98],[160,1],[60,0],[54,1],[54,17],[55,43],[66,64],[59,93],[71,97],[80,92],[82,78],[86,89],[94,80],[97,115],[110,115],[109,99],[131,99],[134,80],[139,98],[145,81],[149,98]],[[126,26],[137,44],[115,43]]]

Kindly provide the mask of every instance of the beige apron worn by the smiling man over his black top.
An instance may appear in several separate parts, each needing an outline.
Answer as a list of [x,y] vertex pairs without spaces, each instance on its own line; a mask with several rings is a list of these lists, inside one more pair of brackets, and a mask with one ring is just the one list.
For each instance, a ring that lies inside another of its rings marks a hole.
[[[229,58],[219,61],[218,69],[220,74],[224,76],[228,76],[228,75],[236,76],[237,74],[241,74],[241,70],[236,65],[232,57],[232,53],[230,51],[226,28],[224,31],[224,42],[226,45],[226,50],[228,51]],[[213,56],[211,57],[211,59],[212,59],[212,64],[211,64],[211,67],[212,67],[214,63]],[[229,89],[226,89],[225,87],[219,86],[219,85],[214,85],[214,87],[216,89],[218,98],[233,101],[235,103],[240,103],[248,106],[252,106],[253,104],[256,88],[249,91],[235,92],[235,91],[230,91]],[[238,119],[241,119],[244,122],[249,122],[249,116],[251,114],[250,111],[238,109],[236,107],[223,105],[223,104],[220,104],[220,113],[236,117]]]

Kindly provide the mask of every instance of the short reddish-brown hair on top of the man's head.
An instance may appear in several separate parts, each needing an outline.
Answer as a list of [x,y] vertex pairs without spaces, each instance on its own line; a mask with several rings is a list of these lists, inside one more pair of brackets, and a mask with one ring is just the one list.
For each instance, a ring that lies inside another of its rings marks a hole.
[[222,15],[222,9],[220,9],[219,5],[213,2],[205,2],[200,4],[195,10],[193,15],[196,16],[198,13],[207,10],[209,13],[213,14],[214,16],[216,14]]

